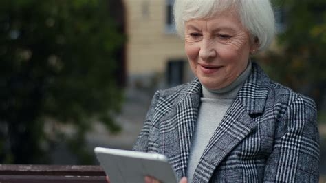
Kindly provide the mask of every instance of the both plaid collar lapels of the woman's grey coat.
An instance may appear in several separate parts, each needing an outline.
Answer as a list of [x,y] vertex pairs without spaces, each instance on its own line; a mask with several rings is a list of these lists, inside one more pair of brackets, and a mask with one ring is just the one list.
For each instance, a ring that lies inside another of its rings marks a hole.
[[[269,83],[270,79],[264,74],[261,67],[257,63],[252,63],[252,73],[239,90],[235,102],[226,111],[226,115],[199,160],[193,177],[194,181],[208,182],[219,163],[257,126],[252,118],[259,116],[264,111]],[[178,166],[177,171],[181,177],[186,176],[191,139],[195,130],[201,95],[202,85],[196,78],[188,87],[184,98],[177,104],[177,136],[181,156],[181,166]]]

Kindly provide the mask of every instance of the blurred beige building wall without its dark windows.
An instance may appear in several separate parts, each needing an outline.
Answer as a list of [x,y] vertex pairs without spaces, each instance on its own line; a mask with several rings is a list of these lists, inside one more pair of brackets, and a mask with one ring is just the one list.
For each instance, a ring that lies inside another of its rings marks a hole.
[[186,58],[176,34],[165,31],[165,0],[123,0],[127,17],[127,73],[163,73],[169,58]]

